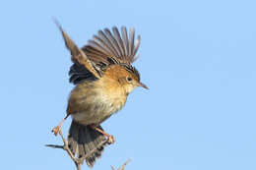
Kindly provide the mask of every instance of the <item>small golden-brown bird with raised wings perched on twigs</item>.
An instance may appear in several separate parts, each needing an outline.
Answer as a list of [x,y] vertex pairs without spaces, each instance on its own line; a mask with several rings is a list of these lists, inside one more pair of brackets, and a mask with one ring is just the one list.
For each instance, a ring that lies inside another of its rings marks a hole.
[[[129,93],[137,86],[148,89],[140,81],[139,71],[132,63],[137,54],[141,36],[135,38],[135,29],[113,27],[99,29],[88,44],[79,48],[64,29],[60,29],[73,62],[69,82],[74,84],[68,98],[66,116],[53,128],[57,136],[63,122],[72,117],[68,133],[68,147],[78,158],[85,158],[93,167],[107,144],[115,142],[100,124],[125,105]],[[105,142],[104,142],[105,141]]]

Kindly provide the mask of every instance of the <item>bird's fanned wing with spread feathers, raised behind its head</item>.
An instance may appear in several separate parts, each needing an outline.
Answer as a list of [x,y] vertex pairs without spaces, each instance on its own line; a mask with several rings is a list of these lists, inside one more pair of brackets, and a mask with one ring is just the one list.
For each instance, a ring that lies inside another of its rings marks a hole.
[[135,39],[135,30],[130,28],[129,36],[125,27],[98,30],[97,35],[82,48],[89,59],[99,68],[116,63],[133,63],[139,55],[141,37]]

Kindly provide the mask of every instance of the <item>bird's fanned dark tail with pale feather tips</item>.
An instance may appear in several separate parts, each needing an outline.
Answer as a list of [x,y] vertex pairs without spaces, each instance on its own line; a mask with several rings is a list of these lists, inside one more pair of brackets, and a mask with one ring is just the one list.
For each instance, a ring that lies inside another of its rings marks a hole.
[[[100,126],[97,128],[102,130]],[[94,166],[96,158],[100,157],[105,144],[106,140],[101,133],[90,126],[72,121],[68,135],[68,147],[78,158],[86,156],[88,166]]]

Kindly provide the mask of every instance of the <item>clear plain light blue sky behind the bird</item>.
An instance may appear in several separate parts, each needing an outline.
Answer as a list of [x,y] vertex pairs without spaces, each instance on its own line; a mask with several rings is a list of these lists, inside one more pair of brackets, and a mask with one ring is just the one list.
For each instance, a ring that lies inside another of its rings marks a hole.
[[[51,134],[73,85],[55,17],[83,46],[99,28],[142,36],[137,88],[103,123],[116,142],[94,169],[256,169],[256,2],[1,1],[0,169],[75,169]],[[70,118],[63,126],[65,134]],[[86,165],[83,169],[88,169]]]

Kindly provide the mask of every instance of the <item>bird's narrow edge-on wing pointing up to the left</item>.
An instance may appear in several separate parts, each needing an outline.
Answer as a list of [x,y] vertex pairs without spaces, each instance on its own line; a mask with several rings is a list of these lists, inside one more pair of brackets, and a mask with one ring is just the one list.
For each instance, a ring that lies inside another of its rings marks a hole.
[[56,25],[62,33],[65,45],[70,50],[71,60],[74,63],[69,72],[70,82],[77,84],[85,79],[100,79],[100,70],[96,67],[95,63],[90,61],[87,54],[75,44],[57,22]]

